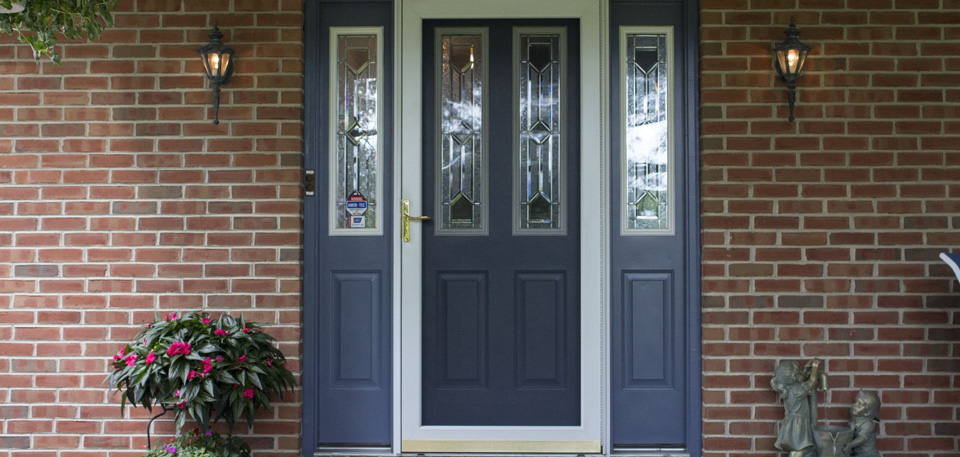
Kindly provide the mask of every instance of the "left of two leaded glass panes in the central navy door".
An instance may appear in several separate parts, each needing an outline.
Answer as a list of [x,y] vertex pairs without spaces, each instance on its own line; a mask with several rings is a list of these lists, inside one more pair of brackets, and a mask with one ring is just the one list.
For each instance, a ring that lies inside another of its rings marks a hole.
[[440,37],[440,229],[483,228],[483,36]]

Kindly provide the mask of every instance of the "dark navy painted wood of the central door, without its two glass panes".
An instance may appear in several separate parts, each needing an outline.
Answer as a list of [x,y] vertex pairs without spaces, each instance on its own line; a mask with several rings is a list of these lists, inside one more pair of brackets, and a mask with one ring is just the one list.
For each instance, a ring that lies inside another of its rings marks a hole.
[[[580,422],[579,25],[571,20],[424,24],[422,207],[434,207],[434,27],[488,27],[488,236],[424,229],[423,423]],[[513,27],[565,26],[567,235],[513,236]],[[454,274],[482,276],[455,282]],[[562,280],[560,278],[563,278]],[[485,289],[484,289],[485,286]],[[520,292],[518,294],[518,292]],[[541,294],[542,292],[542,294]],[[461,301],[460,304],[452,303]],[[450,311],[462,312],[451,316]],[[444,311],[446,310],[446,312]],[[546,317],[545,317],[546,316]],[[456,341],[463,332],[465,341]],[[485,332],[485,334],[474,332]],[[548,344],[549,343],[549,344]],[[476,355],[474,354],[476,352]],[[547,360],[534,360],[547,357]],[[478,366],[479,365],[479,366]],[[454,375],[463,379],[451,379]],[[472,379],[475,377],[476,379]],[[463,382],[464,385],[455,385]]]

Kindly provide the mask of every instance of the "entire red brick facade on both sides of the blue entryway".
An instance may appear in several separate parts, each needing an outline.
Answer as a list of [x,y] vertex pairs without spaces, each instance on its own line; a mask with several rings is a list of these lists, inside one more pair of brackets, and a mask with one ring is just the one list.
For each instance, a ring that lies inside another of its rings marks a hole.
[[[956,455],[960,287],[936,254],[960,246],[960,1],[701,4],[708,455],[771,455],[770,372],[814,356],[830,419],[878,389],[886,457]],[[137,455],[145,415],[101,382],[155,309],[243,311],[299,355],[302,2],[121,5],[60,67],[0,41],[0,457]],[[769,52],[790,16],[814,45],[794,124]],[[195,54],[214,20],[237,51],[219,126]],[[296,401],[261,455],[296,452]]]

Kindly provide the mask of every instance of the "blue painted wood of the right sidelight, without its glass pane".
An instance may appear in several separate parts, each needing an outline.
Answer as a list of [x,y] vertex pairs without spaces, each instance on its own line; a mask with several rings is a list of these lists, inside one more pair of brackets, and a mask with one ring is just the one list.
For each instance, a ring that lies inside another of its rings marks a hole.
[[[683,447],[700,454],[698,55],[689,3],[617,1],[610,7],[611,435],[614,448]],[[620,26],[672,25],[676,56],[675,236],[620,235]],[[693,41],[691,41],[693,40]],[[656,413],[654,413],[656,412]]]

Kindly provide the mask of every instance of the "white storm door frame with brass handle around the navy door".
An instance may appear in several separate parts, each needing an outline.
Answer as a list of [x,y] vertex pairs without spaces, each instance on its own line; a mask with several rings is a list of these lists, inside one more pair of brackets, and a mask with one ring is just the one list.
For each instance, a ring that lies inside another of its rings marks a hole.
[[[394,452],[599,452],[607,419],[606,332],[609,163],[604,43],[605,0],[397,0],[395,199],[422,214],[421,113],[424,19],[577,18],[580,20],[581,125],[581,425],[567,427],[424,426],[421,421],[422,226],[394,238]],[[399,215],[395,227],[400,226]],[[570,221],[573,223],[573,221]],[[537,447],[553,443],[554,446]],[[563,443],[566,443],[564,445]]]

